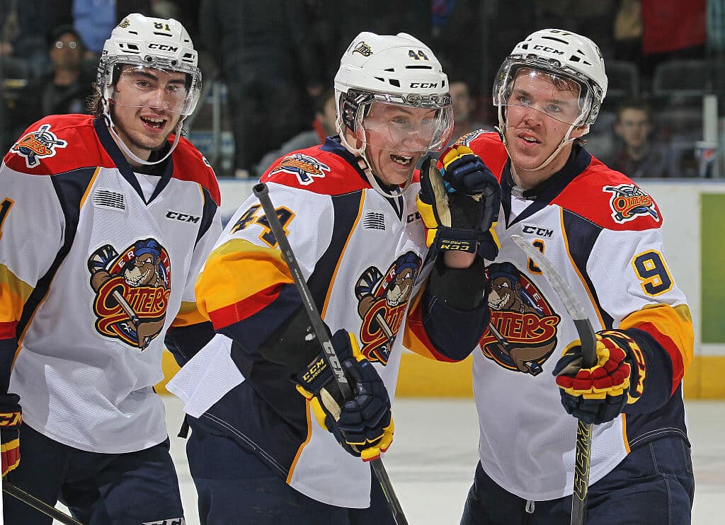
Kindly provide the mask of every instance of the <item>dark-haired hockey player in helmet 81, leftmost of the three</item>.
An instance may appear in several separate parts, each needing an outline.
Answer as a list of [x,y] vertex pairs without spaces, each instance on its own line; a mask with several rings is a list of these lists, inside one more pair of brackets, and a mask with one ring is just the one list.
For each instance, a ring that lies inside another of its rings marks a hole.
[[[165,338],[183,361],[213,335],[194,282],[219,188],[181,138],[201,80],[179,22],[129,14],[96,114],[36,122],[0,169],[2,474],[86,524],[183,523],[154,385]],[[4,512],[52,521],[13,497]]]

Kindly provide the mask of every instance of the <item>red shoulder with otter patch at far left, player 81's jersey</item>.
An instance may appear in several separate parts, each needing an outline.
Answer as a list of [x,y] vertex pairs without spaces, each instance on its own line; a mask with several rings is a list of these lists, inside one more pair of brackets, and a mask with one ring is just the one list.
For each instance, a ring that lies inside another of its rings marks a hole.
[[5,164],[17,172],[54,175],[89,166],[112,167],[92,115],[51,115],[30,125],[12,145]]

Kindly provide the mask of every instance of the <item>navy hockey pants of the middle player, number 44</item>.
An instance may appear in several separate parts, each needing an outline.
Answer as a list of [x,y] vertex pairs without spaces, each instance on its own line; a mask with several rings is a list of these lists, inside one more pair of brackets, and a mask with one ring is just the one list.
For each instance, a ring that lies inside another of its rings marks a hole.
[[[193,418],[186,451],[202,525],[394,525],[373,473],[369,508],[327,505],[297,492],[231,437],[207,432]],[[340,490],[345,490],[344,485]]]

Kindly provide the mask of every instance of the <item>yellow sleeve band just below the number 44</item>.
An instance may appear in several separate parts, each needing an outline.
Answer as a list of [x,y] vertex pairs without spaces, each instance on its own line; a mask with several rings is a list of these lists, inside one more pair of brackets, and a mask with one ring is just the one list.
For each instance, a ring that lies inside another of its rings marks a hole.
[[210,312],[244,301],[260,290],[292,282],[277,248],[230,239],[209,254],[204,271],[197,277],[196,306],[202,316],[211,319]]

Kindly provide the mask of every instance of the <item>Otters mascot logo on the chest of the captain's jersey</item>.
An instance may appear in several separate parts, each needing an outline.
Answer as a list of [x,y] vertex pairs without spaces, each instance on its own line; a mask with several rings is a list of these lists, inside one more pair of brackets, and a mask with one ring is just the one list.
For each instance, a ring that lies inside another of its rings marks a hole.
[[556,347],[561,318],[526,275],[509,262],[487,269],[491,291],[489,329],[479,345],[505,369],[536,376]]

